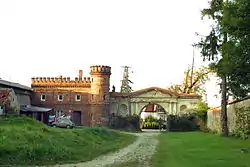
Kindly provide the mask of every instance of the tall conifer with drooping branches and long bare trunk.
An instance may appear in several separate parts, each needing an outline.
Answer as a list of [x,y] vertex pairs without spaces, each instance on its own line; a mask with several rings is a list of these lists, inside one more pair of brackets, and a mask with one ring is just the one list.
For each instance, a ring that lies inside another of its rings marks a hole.
[[221,26],[223,19],[223,0],[211,0],[209,8],[202,10],[202,17],[207,16],[214,21],[209,35],[202,37],[197,44],[201,48],[203,60],[212,61],[211,67],[221,78],[221,132],[228,136],[227,125],[227,76],[230,70],[228,54],[225,52],[227,33]]

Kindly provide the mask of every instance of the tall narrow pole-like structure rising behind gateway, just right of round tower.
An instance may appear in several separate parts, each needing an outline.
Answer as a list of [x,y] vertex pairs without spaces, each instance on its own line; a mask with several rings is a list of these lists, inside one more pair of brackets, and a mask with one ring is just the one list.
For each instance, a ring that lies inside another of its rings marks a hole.
[[133,82],[129,79],[129,66],[122,66],[124,68],[123,71],[123,78],[121,80],[122,85],[121,85],[121,93],[130,93],[132,92],[132,88],[130,84],[133,84]]

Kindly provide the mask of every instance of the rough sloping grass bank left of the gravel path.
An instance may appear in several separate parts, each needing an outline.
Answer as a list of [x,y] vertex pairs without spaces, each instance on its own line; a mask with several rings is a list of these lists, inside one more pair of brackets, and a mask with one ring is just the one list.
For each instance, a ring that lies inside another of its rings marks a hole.
[[92,160],[131,144],[135,136],[104,128],[59,129],[27,117],[0,117],[0,166]]

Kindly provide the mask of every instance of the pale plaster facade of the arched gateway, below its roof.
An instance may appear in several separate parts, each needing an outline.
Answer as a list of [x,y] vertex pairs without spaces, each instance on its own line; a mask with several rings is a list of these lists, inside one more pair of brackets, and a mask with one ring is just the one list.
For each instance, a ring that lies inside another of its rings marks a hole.
[[[197,98],[178,98],[159,91],[149,91],[140,95],[131,97],[112,97],[110,112],[120,116],[139,115],[142,109],[149,103],[162,106],[167,114],[181,114],[181,106],[186,110],[195,108],[199,99]],[[126,107],[124,107],[126,106]],[[127,110],[124,110],[127,108]]]

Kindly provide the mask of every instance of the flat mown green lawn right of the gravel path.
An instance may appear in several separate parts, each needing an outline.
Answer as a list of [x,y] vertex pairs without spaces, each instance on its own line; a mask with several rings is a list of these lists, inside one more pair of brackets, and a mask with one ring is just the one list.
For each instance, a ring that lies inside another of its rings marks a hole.
[[164,133],[159,140],[152,167],[250,167],[249,140],[202,132]]

